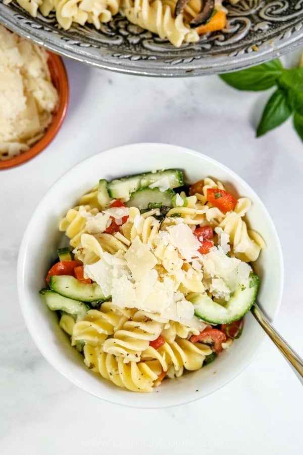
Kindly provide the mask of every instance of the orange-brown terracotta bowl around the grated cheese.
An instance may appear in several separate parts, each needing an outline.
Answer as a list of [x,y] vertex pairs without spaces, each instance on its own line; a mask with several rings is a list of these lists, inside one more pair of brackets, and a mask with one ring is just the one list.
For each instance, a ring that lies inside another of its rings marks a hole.
[[51,52],[47,53],[48,68],[51,72],[53,83],[59,94],[59,103],[53,112],[52,123],[46,129],[42,138],[26,152],[22,152],[14,158],[0,161],[0,169],[9,169],[11,167],[18,166],[19,164],[26,163],[28,160],[38,155],[38,153],[42,152],[42,150],[44,150],[53,141],[63,123],[69,101],[68,77],[61,57]]

